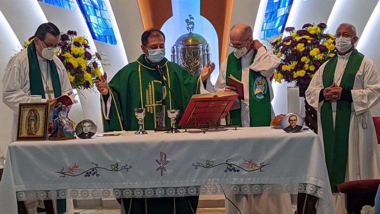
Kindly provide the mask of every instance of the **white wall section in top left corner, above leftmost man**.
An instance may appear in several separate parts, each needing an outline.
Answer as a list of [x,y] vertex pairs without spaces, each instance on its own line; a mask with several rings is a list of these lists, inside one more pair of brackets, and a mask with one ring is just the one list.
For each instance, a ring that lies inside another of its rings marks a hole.
[[2,0],[0,8],[21,44],[34,35],[40,24],[47,22],[37,0]]

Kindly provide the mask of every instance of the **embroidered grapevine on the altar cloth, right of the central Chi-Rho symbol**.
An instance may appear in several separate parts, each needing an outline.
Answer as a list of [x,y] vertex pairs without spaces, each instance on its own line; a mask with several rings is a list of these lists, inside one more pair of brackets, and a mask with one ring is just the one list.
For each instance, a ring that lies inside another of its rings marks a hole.
[[195,169],[198,169],[198,167],[210,169],[210,168],[214,168],[214,167],[217,167],[220,165],[226,165],[226,169],[224,170],[225,173],[227,173],[227,172],[236,173],[236,172],[240,172],[241,170],[244,170],[247,172],[253,172],[253,171],[264,172],[264,170],[263,170],[264,166],[268,166],[270,164],[270,163],[265,163],[265,161],[264,161],[264,162],[260,163],[260,165],[257,165],[255,162],[252,161],[252,159],[250,159],[250,160],[243,159],[247,166],[242,167],[242,166],[236,165],[234,163],[229,163],[230,160],[232,160],[232,158],[227,159],[225,163],[218,163],[217,165],[214,165],[214,161],[210,161],[210,160],[206,160],[206,165],[204,165],[203,163],[199,163],[199,162],[192,163],[192,165],[195,166]]

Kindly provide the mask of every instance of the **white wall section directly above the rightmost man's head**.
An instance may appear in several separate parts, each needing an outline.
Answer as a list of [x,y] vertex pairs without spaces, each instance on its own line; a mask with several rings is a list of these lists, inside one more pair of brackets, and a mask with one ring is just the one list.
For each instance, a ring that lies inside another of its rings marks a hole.
[[336,0],[327,21],[329,31],[335,34],[340,23],[348,22],[356,27],[356,35],[360,40],[361,33],[363,33],[377,2],[378,0]]

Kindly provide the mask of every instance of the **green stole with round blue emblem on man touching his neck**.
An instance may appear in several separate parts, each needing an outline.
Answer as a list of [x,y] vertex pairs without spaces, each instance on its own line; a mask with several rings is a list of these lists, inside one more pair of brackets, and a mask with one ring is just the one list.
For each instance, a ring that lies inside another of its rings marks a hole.
[[[254,50],[251,64],[255,59],[257,51]],[[237,59],[232,52],[228,55],[227,71],[226,71],[226,85],[228,86],[228,77],[232,75],[241,81],[242,68],[241,58]],[[256,85],[258,78],[261,77],[261,82],[265,82],[264,95],[259,93],[255,95]],[[271,124],[271,96],[269,92],[269,85],[266,78],[260,72],[249,70],[249,124],[250,127],[269,126]],[[241,125],[241,109],[234,109],[230,111],[230,118],[227,124]]]

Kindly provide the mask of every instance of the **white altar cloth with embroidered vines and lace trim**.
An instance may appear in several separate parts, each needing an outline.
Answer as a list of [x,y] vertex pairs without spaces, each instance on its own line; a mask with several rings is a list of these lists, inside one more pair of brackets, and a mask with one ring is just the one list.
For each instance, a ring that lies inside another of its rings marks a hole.
[[16,214],[16,200],[262,192],[309,193],[320,198],[318,213],[334,212],[321,142],[309,130],[120,133],[10,144],[0,214]]

